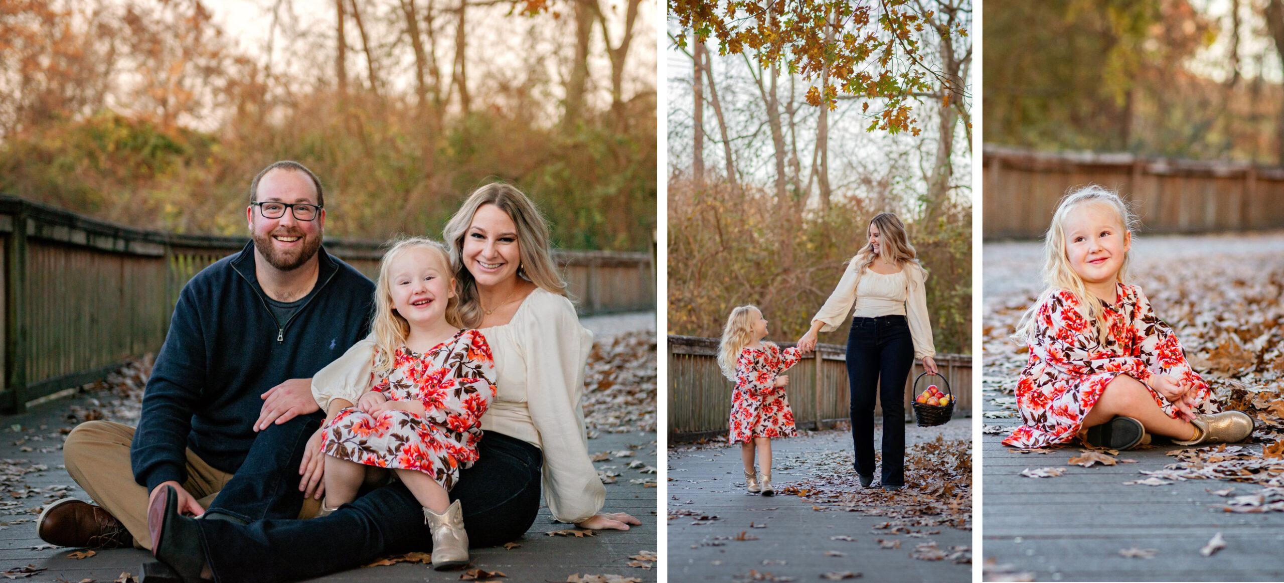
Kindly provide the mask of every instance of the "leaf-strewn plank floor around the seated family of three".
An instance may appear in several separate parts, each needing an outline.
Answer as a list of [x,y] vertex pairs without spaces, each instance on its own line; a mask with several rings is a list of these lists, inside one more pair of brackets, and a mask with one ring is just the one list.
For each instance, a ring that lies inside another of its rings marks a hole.
[[[584,318],[587,327],[598,338],[616,333],[655,329],[655,313],[615,315]],[[99,396],[101,397],[101,396]],[[48,570],[31,578],[17,580],[67,580],[98,582],[116,580],[122,573],[139,574],[144,561],[152,560],[146,551],[122,548],[98,551],[92,557],[73,560],[68,555],[73,548],[40,548],[44,544],[36,537],[35,519],[44,503],[67,496],[89,500],[67,475],[63,466],[60,428],[69,428],[67,412],[72,406],[96,406],[92,393],[51,401],[28,410],[23,415],[0,416],[0,470],[44,466],[44,470],[30,471],[14,484],[0,487],[0,571],[35,565]],[[39,439],[36,439],[39,438]],[[18,443],[21,442],[21,443]],[[573,574],[619,574],[634,577],[643,582],[656,580],[655,569],[630,568],[629,556],[641,551],[657,551],[656,488],[634,484],[630,480],[650,480],[655,483],[656,474],[642,474],[645,467],[630,469],[628,462],[642,461],[645,466],[656,466],[656,434],[654,431],[606,433],[589,439],[589,453],[616,452],[632,449],[634,457],[615,457],[611,461],[596,464],[598,469],[618,471],[616,483],[606,485],[605,511],[629,512],[642,520],[641,526],[628,532],[602,530],[594,537],[568,538],[550,537],[544,533],[574,528],[569,524],[553,523],[548,509],[541,505],[539,516],[525,537],[516,541],[520,547],[475,548],[471,551],[471,568],[488,571],[503,571],[512,582],[565,582]],[[31,451],[22,451],[30,448]],[[614,467],[611,467],[614,466]],[[62,488],[64,487],[64,488]],[[18,498],[17,496],[26,496]],[[654,565],[654,564],[651,564]],[[336,573],[321,579],[338,582],[379,582],[379,580],[460,580],[458,570],[434,571],[426,565],[397,564],[392,566],[362,568]],[[8,579],[6,579],[8,580]]]

